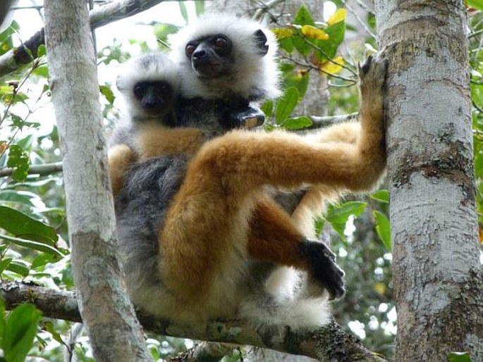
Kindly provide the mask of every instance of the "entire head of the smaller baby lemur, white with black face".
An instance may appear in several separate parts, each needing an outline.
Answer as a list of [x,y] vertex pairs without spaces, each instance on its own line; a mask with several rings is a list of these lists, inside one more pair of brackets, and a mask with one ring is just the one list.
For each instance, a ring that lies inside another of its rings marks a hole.
[[116,87],[131,120],[171,117],[180,89],[178,68],[164,53],[148,53],[126,62]]

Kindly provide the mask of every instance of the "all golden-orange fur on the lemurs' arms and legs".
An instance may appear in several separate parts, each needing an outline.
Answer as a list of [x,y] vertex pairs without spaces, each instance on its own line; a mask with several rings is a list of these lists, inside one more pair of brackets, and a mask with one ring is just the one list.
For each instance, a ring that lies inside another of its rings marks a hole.
[[[203,131],[192,128],[150,125],[140,130],[140,161],[170,153],[193,155],[158,238],[161,280],[187,308],[218,300],[213,295],[223,290],[220,283],[229,280],[224,277],[241,269],[247,257],[307,270],[297,252],[302,235],[294,220],[304,219],[328,196],[377,184],[386,165],[384,73],[380,67],[377,71],[362,72],[360,123],[334,125],[313,137],[236,130],[204,142]],[[109,154],[114,192],[122,185],[120,170],[133,161],[124,151]],[[271,201],[267,185],[313,187],[290,218]]]

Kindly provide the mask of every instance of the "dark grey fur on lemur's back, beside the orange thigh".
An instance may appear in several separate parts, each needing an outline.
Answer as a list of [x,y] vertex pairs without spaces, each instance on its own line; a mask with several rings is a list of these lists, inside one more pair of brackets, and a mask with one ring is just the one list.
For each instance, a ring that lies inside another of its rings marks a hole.
[[[116,197],[118,243],[126,275],[140,275],[140,283],[156,285],[157,232],[169,201],[183,181],[188,158],[183,155],[150,158],[135,164]],[[159,286],[161,287],[161,286]]]

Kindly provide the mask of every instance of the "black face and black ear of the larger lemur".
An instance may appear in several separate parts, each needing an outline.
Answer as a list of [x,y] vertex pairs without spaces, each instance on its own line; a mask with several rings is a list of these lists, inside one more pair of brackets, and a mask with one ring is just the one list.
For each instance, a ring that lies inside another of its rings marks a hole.
[[[253,34],[253,41],[258,50],[257,55],[267,54],[267,37],[262,30]],[[238,61],[233,56],[233,42],[224,34],[209,35],[188,42],[185,54],[195,72],[209,79],[233,74],[233,67]]]

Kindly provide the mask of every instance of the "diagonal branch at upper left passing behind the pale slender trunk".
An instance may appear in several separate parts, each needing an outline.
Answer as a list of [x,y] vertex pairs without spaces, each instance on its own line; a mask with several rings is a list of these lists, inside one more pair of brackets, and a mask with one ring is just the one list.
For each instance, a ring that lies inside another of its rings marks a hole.
[[[142,11],[152,8],[163,1],[173,0],[118,0],[90,11],[90,25],[92,29],[102,27],[114,21],[128,18]],[[7,51],[0,56],[0,77],[17,70],[22,65],[30,63],[37,58],[37,48],[44,44],[44,29],[35,33],[22,45]]]

